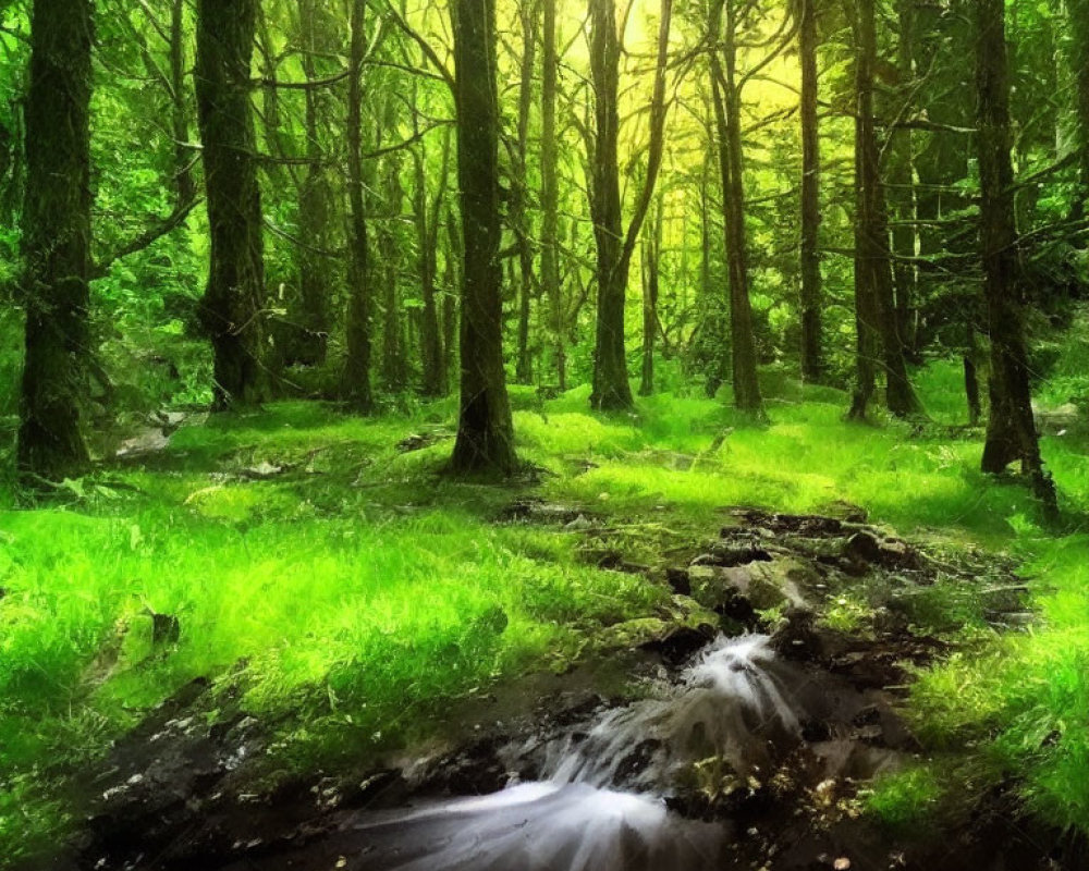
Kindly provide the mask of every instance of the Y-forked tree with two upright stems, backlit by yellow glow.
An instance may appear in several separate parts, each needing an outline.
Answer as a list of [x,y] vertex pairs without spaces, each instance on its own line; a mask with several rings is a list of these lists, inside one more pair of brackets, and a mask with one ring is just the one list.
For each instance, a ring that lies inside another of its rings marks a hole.
[[632,255],[650,208],[662,164],[665,128],[665,75],[669,56],[672,0],[662,0],[658,22],[654,89],[650,100],[650,143],[647,172],[624,231],[620,194],[620,87],[621,45],[614,0],[590,0],[590,73],[594,85],[595,143],[590,214],[597,244],[598,311],[594,352],[594,392],[590,405],[599,410],[622,410],[633,405],[627,381],[624,343],[624,307]]

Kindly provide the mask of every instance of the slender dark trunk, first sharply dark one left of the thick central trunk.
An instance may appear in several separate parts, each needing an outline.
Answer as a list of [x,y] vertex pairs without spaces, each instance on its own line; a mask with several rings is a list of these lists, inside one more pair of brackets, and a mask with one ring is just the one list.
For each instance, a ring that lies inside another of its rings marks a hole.
[[366,0],[352,0],[352,44],[347,90],[347,187],[351,237],[348,240],[347,356],[344,360],[344,398],[360,414],[374,409],[370,388],[371,329],[370,252],[367,238],[363,179],[363,61],[366,46]]

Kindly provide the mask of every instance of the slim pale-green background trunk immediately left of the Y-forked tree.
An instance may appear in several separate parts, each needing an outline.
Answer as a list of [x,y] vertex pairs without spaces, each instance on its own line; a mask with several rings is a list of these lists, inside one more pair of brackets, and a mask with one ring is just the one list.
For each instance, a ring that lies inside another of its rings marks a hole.
[[559,58],[555,32],[555,5],[559,0],[541,0],[544,5],[543,58],[541,60],[541,283],[549,303],[549,332],[555,354],[555,375],[560,390],[567,389],[566,347],[564,343],[563,289],[560,285],[559,258],[559,180],[556,174],[555,99]]

